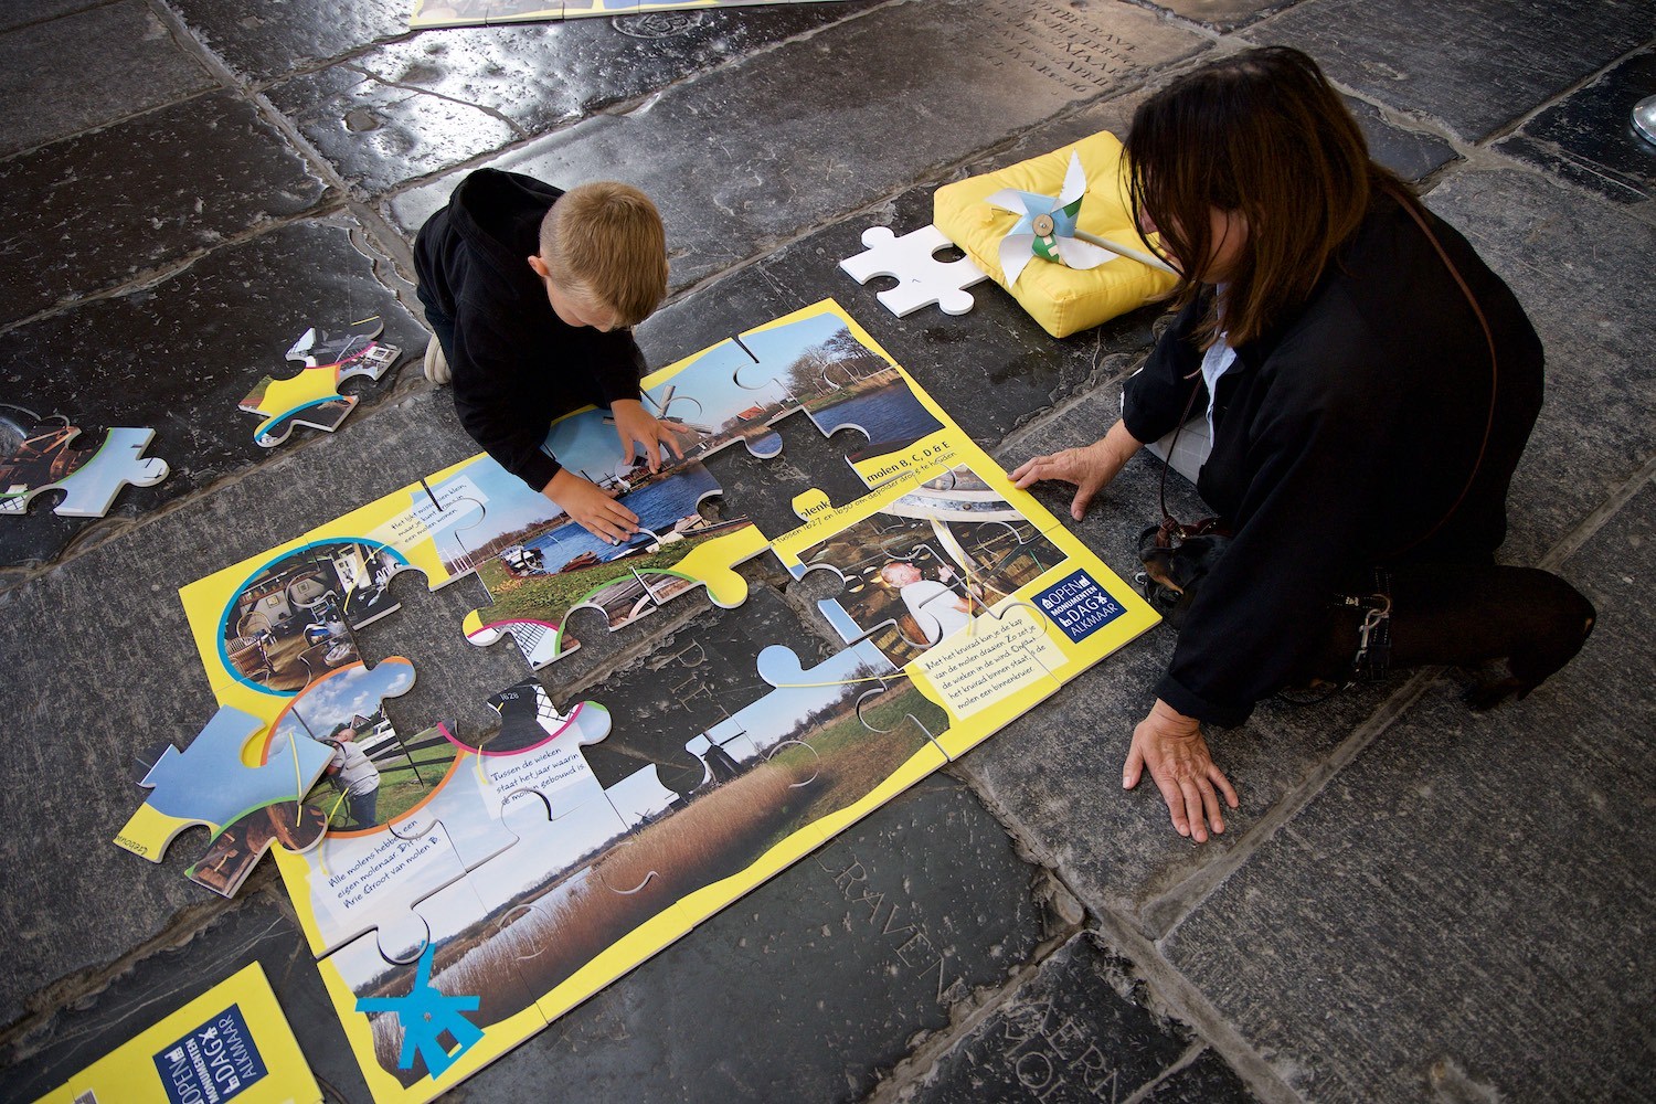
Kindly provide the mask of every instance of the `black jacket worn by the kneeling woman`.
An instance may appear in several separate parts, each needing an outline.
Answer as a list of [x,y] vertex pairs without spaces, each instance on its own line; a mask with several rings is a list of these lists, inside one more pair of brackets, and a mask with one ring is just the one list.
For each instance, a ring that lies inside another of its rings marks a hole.
[[[1242,723],[1326,639],[1335,596],[1371,589],[1368,568],[1490,563],[1505,536],[1507,485],[1542,404],[1542,343],[1466,238],[1427,220],[1495,336],[1494,420],[1484,329],[1421,228],[1378,195],[1310,301],[1237,348],[1219,377],[1197,490],[1235,540],[1156,687],[1181,713]],[[1192,414],[1207,409],[1194,339],[1206,310],[1186,308],[1128,381],[1123,415],[1138,440],[1172,432],[1192,387]],[[1466,498],[1423,541],[1474,465]]]

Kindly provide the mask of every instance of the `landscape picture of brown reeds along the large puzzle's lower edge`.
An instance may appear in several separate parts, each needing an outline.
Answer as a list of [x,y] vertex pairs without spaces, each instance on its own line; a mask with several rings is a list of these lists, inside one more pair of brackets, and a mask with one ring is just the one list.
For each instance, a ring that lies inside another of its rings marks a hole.
[[[735,776],[709,770],[682,806],[621,836],[571,829],[588,834],[561,856],[507,851],[472,872],[470,889],[455,894],[452,907],[422,905],[436,942],[432,985],[480,996],[469,1018],[487,1030],[687,894],[739,874],[803,826],[854,804],[947,727],[946,713],[878,650],[846,649],[815,669],[813,682],[828,685],[777,689],[734,715],[745,733],[724,745],[737,758]],[[686,743],[705,746],[699,737],[686,733]],[[353,991],[406,993],[414,967],[388,965],[368,942],[331,960]],[[417,1081],[419,1063],[396,1069],[396,1016],[369,1020],[381,1064],[404,1084]]]

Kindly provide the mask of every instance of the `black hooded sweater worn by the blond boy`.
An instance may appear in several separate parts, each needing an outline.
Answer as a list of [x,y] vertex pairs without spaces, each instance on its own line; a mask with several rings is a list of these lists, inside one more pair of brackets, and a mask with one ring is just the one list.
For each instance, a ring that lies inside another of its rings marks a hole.
[[631,329],[570,326],[528,265],[563,195],[533,177],[479,169],[414,242],[421,298],[454,324],[454,407],[477,444],[537,492],[558,473],[542,452],[555,417],[638,399],[644,356]]

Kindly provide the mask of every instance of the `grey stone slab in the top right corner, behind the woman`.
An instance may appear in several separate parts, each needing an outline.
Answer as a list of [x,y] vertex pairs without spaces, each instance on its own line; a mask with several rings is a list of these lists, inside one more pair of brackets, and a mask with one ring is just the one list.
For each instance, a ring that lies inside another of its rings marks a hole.
[[1482,141],[1649,40],[1651,0],[1305,0],[1245,31]]

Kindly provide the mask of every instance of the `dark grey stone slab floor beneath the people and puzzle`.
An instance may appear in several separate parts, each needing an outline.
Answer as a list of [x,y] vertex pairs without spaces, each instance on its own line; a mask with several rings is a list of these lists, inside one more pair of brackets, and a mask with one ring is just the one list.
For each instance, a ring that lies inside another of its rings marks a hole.
[[[1151,632],[450,1099],[1651,1097],[1656,146],[1628,113],[1656,93],[1656,0],[838,0],[419,35],[406,8],[0,3],[0,401],[154,425],[172,465],[106,520],[0,523],[0,1097],[257,958],[316,1073],[366,1099],[270,871],[222,902],[108,839],[131,751],[212,710],[177,588],[472,452],[416,364],[272,452],[235,410],[315,316],[424,343],[409,237],[464,172],[657,197],[652,364],[831,295],[1012,465],[1101,430],[1154,311],[1052,341],[985,285],[896,319],[835,262],[1259,43],[1312,51],[1535,319],[1550,386],[1504,556],[1598,604],[1586,650],[1485,715],[1439,670],[1262,707],[1214,735],[1242,808],[1197,847],[1114,781],[1171,649]],[[790,478],[845,449],[785,439]],[[724,463],[744,502],[782,485]],[[1073,525],[1121,573],[1156,478],[1134,462]],[[522,675],[429,631],[477,591],[406,596],[364,642],[421,664],[394,718]]]

